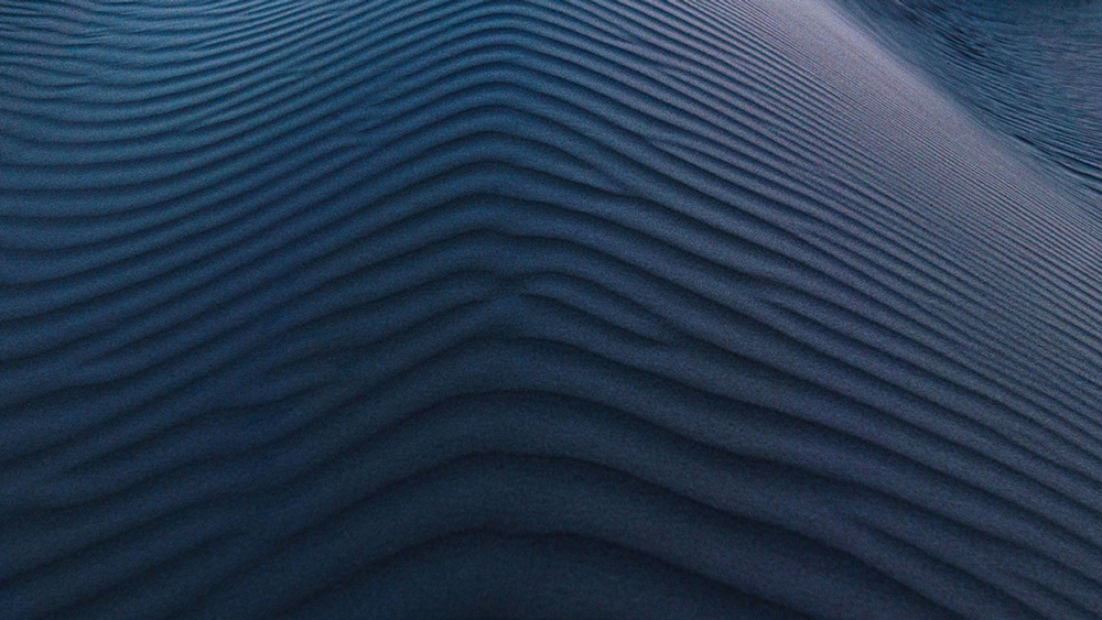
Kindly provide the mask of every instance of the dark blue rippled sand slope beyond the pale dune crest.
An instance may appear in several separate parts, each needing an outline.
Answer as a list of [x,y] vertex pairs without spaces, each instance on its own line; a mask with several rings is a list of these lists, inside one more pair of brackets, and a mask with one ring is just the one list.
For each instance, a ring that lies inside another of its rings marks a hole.
[[[997,133],[1102,194],[1102,3],[843,0]],[[1095,208],[1096,210],[1096,208]]]

